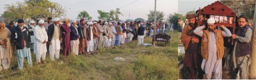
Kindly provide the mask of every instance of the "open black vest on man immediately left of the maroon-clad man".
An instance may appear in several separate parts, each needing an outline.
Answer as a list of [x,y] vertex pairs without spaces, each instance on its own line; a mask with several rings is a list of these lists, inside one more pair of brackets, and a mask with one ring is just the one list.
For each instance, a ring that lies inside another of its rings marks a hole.
[[[59,31],[60,31],[60,26],[59,26]],[[61,31],[60,31],[61,32]],[[59,38],[61,38],[61,33],[59,33]],[[47,35],[48,35],[48,42],[52,41],[52,35],[54,33],[54,24],[51,24],[50,26],[48,26],[48,31],[47,31]]]

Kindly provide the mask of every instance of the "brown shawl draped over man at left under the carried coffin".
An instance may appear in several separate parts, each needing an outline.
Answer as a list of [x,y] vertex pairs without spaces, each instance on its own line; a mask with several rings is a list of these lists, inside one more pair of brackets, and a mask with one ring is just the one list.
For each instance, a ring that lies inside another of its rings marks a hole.
[[188,45],[189,42],[191,41],[191,38],[193,37],[193,35],[195,35],[193,31],[194,29],[191,26],[189,26],[189,24],[186,24],[186,26],[184,26],[182,30],[180,40],[185,47],[185,51],[188,49]]

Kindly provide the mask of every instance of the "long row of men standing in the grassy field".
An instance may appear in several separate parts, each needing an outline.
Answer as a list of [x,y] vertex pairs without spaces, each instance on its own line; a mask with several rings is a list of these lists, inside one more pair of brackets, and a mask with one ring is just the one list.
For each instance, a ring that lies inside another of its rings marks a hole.
[[[60,51],[63,58],[72,53],[75,55],[95,54],[100,47],[120,46],[132,40],[138,40],[138,45],[143,45],[145,37],[151,37],[154,28],[156,34],[167,33],[168,24],[157,22],[154,27],[152,22],[146,21],[103,21],[103,20],[70,20],[52,19],[30,20],[26,26],[24,20],[17,20],[17,25],[10,22],[5,26],[0,22],[0,71],[10,67],[13,51],[17,51],[19,69],[22,69],[24,58],[29,67],[33,66],[31,51],[35,53],[36,63],[45,62],[46,53],[52,61],[60,61]],[[171,28],[174,25],[171,25]]]

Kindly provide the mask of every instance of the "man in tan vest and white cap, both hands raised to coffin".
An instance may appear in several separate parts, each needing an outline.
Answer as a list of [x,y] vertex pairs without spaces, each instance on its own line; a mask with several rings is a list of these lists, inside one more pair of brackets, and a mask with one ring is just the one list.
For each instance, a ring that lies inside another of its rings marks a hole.
[[222,74],[222,58],[224,56],[224,44],[223,36],[231,36],[232,34],[225,28],[220,26],[221,29],[216,29],[214,19],[207,20],[207,29],[205,26],[196,28],[193,32],[202,37],[201,55],[204,58],[202,61],[202,69],[205,71],[206,79],[212,78],[212,72],[214,73],[214,79],[221,79]]

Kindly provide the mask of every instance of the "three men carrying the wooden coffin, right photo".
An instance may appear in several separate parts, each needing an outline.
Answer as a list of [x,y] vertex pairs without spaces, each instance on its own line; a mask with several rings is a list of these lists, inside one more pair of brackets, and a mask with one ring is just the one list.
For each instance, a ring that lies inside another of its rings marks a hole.
[[[196,23],[195,13],[187,14],[186,19],[188,24],[182,29],[180,40],[186,51],[184,64],[189,79],[203,79],[204,74],[206,79],[222,79],[224,65],[230,79],[248,79],[252,24],[248,25],[244,15],[237,18],[233,35],[225,26],[217,26],[214,19],[207,19],[203,26]],[[234,45],[230,44],[232,39]]]

